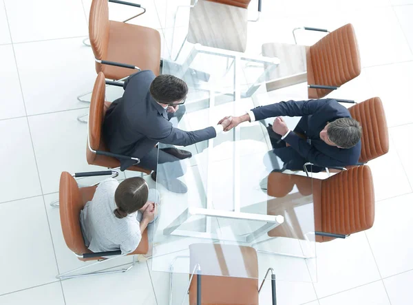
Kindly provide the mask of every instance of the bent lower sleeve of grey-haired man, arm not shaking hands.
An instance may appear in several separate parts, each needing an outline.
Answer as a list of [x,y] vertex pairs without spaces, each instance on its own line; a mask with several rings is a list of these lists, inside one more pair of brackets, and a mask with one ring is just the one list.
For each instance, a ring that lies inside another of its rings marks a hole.
[[315,165],[319,165],[320,167],[345,167],[348,164],[341,160],[337,160],[335,158],[331,158],[326,154],[323,154],[321,151],[318,151],[312,145],[309,145],[306,140],[303,140],[294,132],[290,132],[284,141],[288,143],[293,149],[298,151],[298,153],[306,160],[310,161]]

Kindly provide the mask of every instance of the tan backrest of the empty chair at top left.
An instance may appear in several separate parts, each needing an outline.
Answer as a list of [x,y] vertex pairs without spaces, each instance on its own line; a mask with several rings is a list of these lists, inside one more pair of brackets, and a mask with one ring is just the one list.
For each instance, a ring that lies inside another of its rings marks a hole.
[[89,39],[96,59],[106,59],[109,43],[109,6],[107,0],[93,0],[89,12]]

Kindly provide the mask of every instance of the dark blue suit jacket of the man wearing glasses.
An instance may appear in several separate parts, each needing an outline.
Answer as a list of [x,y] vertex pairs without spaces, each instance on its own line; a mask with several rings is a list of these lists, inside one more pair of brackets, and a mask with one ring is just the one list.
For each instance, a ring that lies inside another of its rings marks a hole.
[[[129,76],[123,86],[122,98],[107,109],[103,123],[103,138],[109,151],[142,158],[156,143],[192,145],[216,136],[213,127],[195,132],[174,128],[166,110],[149,93],[155,74],[150,70]],[[121,170],[133,165],[133,160],[120,160]]]

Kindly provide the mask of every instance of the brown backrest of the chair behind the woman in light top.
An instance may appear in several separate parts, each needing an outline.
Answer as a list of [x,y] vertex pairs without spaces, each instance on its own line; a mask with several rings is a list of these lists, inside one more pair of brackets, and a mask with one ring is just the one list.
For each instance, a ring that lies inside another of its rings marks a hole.
[[61,227],[67,247],[77,254],[90,253],[83,241],[79,221],[79,215],[82,209],[83,198],[76,180],[74,180],[70,173],[63,171],[59,185]]

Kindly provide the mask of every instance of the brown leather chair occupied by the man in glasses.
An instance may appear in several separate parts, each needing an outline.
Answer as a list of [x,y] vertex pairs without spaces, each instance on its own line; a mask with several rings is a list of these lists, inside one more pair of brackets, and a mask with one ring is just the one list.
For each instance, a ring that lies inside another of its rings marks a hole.
[[[99,72],[94,83],[92,99],[89,108],[89,123],[87,135],[87,163],[90,165],[99,165],[102,167],[115,168],[120,166],[119,159],[132,159],[139,162],[138,158],[112,154],[108,151],[103,141],[102,125],[105,112],[110,103],[105,102],[105,75]],[[140,171],[142,173],[151,173],[151,170],[144,169],[137,165],[128,168],[130,171]]]

